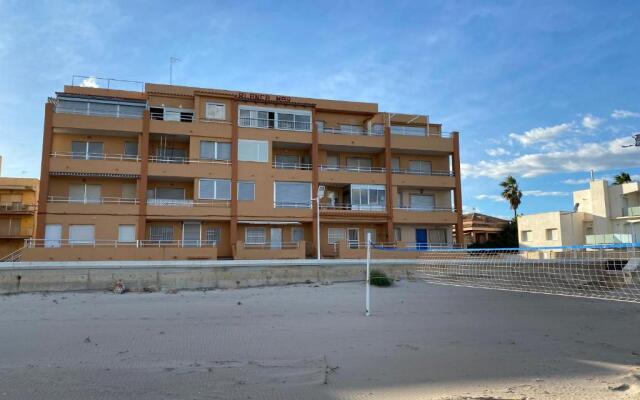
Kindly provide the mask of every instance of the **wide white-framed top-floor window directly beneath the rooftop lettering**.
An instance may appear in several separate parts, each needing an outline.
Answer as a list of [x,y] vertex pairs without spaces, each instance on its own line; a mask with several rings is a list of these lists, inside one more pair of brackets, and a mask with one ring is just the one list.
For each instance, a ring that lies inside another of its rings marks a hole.
[[241,107],[238,125],[251,128],[276,128],[311,131],[311,113],[301,110]]

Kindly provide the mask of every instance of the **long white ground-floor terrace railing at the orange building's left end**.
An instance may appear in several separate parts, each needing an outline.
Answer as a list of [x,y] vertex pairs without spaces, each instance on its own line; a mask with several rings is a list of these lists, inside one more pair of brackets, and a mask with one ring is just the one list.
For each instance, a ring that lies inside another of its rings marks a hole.
[[73,239],[26,239],[26,248],[35,247],[215,247],[213,240],[73,240]]

